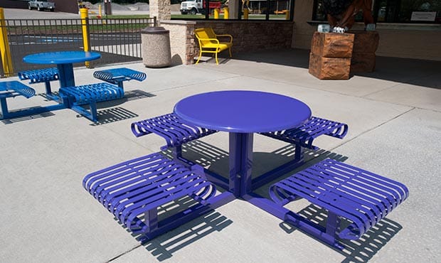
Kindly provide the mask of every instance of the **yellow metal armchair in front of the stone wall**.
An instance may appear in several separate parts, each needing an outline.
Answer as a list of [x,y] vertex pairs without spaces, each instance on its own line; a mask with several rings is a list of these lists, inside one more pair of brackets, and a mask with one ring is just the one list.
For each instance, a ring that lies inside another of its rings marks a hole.
[[[216,65],[219,64],[218,61],[218,53],[226,50],[231,55],[231,47],[233,46],[233,36],[231,35],[216,35],[214,33],[213,28],[196,28],[194,30],[194,34],[196,38],[198,38],[199,42],[199,58],[196,61],[196,64],[201,60],[202,53],[214,53],[216,57]],[[218,37],[230,38],[229,42],[221,42]]]

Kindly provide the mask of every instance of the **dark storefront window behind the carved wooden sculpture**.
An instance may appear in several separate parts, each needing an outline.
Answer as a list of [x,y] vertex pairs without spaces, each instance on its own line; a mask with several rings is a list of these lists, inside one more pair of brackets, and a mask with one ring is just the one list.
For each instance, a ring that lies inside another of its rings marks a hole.
[[[324,0],[314,0],[312,19],[326,21]],[[441,23],[440,0],[374,0],[373,18],[379,23]],[[360,14],[356,21],[362,21]]]

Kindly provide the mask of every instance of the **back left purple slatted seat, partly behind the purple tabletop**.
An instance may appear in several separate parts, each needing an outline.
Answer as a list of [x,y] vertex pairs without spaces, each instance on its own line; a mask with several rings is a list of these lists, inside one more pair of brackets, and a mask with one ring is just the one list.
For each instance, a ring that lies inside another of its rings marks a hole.
[[139,137],[154,133],[163,137],[166,140],[166,146],[162,146],[161,150],[181,146],[188,141],[193,141],[215,132],[218,131],[186,124],[173,113],[132,123],[132,133],[134,136]]

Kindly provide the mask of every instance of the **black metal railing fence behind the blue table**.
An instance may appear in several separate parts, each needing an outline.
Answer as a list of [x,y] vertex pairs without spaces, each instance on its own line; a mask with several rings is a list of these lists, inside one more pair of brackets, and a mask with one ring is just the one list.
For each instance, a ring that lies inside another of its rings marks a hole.
[[[156,18],[87,18],[85,25],[90,50],[102,55],[100,60],[94,60],[91,65],[106,65],[142,60],[140,31],[142,28],[155,26]],[[0,29],[3,27],[0,25]],[[81,18],[6,19],[5,27],[14,69],[12,74],[21,70],[48,67],[23,63],[25,55],[84,49]],[[83,65],[84,63],[78,63],[75,66]],[[0,67],[0,70],[1,76],[4,76],[3,68]]]

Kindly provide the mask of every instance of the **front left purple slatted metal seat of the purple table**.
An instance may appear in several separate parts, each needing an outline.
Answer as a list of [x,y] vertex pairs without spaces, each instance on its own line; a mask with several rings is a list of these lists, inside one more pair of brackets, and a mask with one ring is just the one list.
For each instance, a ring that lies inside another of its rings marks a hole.
[[[201,166],[190,170],[156,153],[90,173],[83,187],[135,235],[150,239],[200,216],[218,201],[216,187],[201,171]],[[198,204],[158,220],[157,208],[187,196]]]

